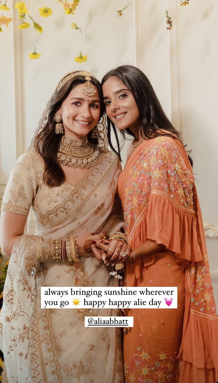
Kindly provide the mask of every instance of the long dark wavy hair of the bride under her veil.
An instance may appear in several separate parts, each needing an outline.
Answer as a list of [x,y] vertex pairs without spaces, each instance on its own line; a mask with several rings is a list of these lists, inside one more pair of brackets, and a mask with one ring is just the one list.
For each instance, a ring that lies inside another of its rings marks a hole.
[[[66,177],[63,172],[58,159],[57,152],[60,144],[62,134],[55,134],[55,121],[54,114],[62,105],[63,101],[66,100],[71,90],[76,87],[76,85],[84,84],[84,76],[76,76],[68,80],[62,88],[54,96],[54,99],[50,105],[48,121],[45,124],[42,131],[35,137],[33,141],[34,149],[42,156],[45,167],[43,173],[43,180],[50,187],[57,187],[62,185],[65,182]],[[91,77],[91,83],[97,88],[99,98],[100,98],[100,118],[104,113],[105,107],[103,102],[103,95],[101,84],[97,79]],[[89,142],[93,144],[98,144],[98,139],[91,137],[91,132],[88,134]]]

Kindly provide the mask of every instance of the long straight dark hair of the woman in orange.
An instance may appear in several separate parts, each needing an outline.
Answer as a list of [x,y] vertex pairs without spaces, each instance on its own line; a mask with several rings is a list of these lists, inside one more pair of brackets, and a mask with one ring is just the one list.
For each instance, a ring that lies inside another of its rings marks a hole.
[[[144,139],[157,137],[161,134],[163,136],[170,136],[174,139],[177,138],[181,141],[181,133],[172,126],[171,122],[165,115],[150,81],[142,72],[142,70],[133,67],[132,65],[122,65],[107,72],[101,81],[101,86],[110,77],[117,77],[117,79],[124,83],[130,92],[132,92],[132,95],[135,98],[135,102],[138,106],[140,116],[140,134]],[[119,155],[120,158],[120,142],[117,135],[118,129],[116,129],[116,126],[109,118],[107,118],[107,124],[109,146],[111,147],[112,151]],[[114,148],[111,142],[111,126],[116,137],[117,150]],[[164,133],[163,130],[166,131],[166,133]],[[135,134],[132,133],[129,128],[120,131],[120,134],[124,138],[126,137],[125,133],[128,133],[136,138]],[[190,156],[189,161],[190,164],[193,165]]]

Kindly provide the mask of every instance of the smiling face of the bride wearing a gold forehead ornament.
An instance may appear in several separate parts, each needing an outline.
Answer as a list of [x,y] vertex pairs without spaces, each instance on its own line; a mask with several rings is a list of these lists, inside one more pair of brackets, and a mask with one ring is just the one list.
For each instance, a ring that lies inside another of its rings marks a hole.
[[87,136],[100,118],[100,98],[96,87],[93,96],[86,96],[82,87],[83,84],[76,85],[59,109],[65,136],[76,139]]

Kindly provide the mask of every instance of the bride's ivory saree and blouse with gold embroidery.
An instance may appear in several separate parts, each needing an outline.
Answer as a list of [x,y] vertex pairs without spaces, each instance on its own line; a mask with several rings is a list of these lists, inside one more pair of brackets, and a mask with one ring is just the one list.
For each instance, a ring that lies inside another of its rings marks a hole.
[[78,185],[49,188],[42,182],[43,164],[36,152],[18,159],[2,210],[28,215],[32,205],[37,235],[16,241],[8,266],[0,314],[3,381],[123,382],[119,332],[84,327],[85,316],[116,315],[112,309],[40,308],[41,286],[107,286],[107,267],[94,257],[81,258],[79,269],[68,262],[37,261],[40,236],[63,239],[69,233],[120,229],[112,212],[119,173],[119,160],[106,150]]

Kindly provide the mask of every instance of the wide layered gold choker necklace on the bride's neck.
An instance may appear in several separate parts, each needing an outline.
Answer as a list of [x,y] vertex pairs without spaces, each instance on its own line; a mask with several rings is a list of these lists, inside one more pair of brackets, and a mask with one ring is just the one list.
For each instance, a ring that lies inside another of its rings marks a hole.
[[100,150],[88,138],[74,139],[62,136],[57,153],[60,164],[89,169],[99,157]]

